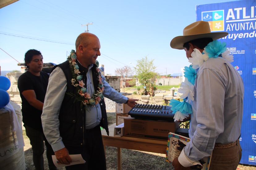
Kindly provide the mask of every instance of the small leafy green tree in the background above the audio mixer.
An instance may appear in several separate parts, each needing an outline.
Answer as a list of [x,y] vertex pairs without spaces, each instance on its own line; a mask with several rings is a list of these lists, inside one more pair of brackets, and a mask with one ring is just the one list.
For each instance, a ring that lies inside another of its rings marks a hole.
[[[146,86],[146,89],[149,90],[150,84],[156,79],[157,73],[156,67],[153,64],[153,59],[148,60],[147,56],[141,60],[137,60],[137,65],[134,68],[136,75],[138,76],[139,82]],[[147,94],[147,90],[144,91],[144,94]]]

